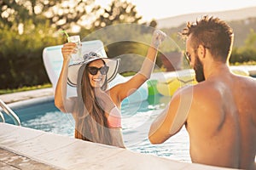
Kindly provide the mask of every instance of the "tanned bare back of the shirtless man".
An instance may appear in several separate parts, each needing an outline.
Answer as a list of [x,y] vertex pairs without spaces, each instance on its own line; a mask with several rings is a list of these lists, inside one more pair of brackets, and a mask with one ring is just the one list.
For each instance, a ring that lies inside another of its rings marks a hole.
[[222,75],[220,80],[208,79],[196,85],[193,94],[196,100],[186,123],[191,160],[255,169],[256,81]]

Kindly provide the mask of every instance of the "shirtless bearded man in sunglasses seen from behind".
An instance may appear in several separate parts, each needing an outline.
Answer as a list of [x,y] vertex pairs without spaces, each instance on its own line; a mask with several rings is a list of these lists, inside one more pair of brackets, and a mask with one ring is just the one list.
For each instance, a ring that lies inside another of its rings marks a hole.
[[192,162],[256,169],[256,80],[229,68],[233,32],[204,16],[183,29],[198,84],[180,88],[152,123],[148,139],[161,144],[185,125]]

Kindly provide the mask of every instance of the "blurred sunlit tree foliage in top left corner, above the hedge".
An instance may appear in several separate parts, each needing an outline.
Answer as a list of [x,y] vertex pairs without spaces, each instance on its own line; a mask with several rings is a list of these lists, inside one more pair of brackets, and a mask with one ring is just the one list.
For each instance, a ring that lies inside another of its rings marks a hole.
[[49,22],[59,29],[71,29],[71,26],[83,26],[83,20],[93,15],[99,6],[95,0],[3,0],[0,1],[0,21],[9,27],[24,24],[32,20],[38,25]]

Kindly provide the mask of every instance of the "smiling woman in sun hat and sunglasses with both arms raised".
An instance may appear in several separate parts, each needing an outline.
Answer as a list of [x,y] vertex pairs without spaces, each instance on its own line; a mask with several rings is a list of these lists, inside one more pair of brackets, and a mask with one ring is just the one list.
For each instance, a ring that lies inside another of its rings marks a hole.
[[[73,114],[75,138],[125,148],[121,132],[121,102],[148,80],[154,69],[157,48],[165,37],[164,32],[154,31],[141,70],[129,81],[110,89],[108,82],[116,76],[118,59],[89,53],[84,55],[84,61],[69,65],[76,44],[67,42],[63,45],[63,65],[55,88],[55,105],[62,112]],[[66,97],[67,83],[77,87],[77,97]]]

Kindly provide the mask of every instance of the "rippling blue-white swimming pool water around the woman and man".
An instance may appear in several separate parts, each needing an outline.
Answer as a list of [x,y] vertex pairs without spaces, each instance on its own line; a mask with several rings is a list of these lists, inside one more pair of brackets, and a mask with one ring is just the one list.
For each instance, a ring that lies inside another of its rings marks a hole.
[[[183,127],[179,133],[164,144],[150,144],[148,129],[151,122],[164,109],[170,99],[158,96],[141,103],[122,105],[122,127],[128,150],[143,154],[162,156],[177,161],[191,162],[189,136]],[[19,102],[18,102],[19,103]],[[57,133],[73,138],[74,121],[71,114],[64,114],[54,105],[54,99],[32,99],[11,106],[20,117],[21,126]],[[9,117],[6,122],[12,123]]]

